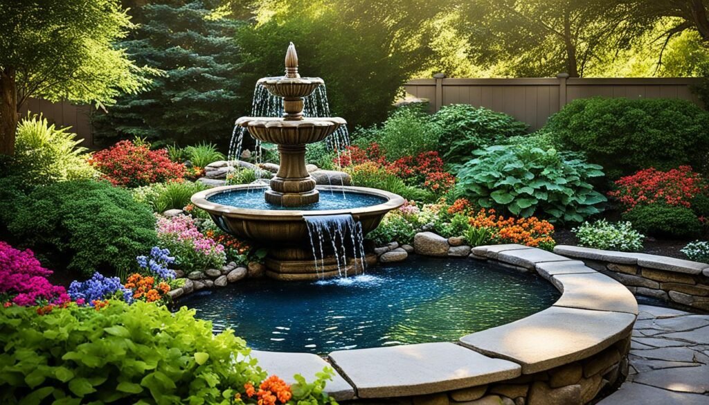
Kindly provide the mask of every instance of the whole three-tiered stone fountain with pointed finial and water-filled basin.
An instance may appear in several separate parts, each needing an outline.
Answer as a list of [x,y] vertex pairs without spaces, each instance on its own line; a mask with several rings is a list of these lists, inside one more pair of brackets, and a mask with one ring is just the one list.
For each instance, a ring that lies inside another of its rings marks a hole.
[[345,120],[303,116],[303,99],[324,82],[298,74],[293,43],[286,52],[285,76],[258,83],[283,99],[284,116],[242,117],[237,125],[262,142],[278,145],[279,172],[270,187],[217,187],[194,194],[192,202],[210,213],[223,231],[264,243],[269,248],[269,277],[301,280],[361,272],[364,254],[357,237],[374,230],[404,199],[364,187],[316,187],[306,170],[306,144],[325,140]]

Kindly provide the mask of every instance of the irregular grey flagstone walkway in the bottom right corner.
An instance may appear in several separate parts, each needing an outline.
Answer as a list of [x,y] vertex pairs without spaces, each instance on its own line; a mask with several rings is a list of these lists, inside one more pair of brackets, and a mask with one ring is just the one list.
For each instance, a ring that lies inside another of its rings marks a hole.
[[709,405],[709,315],[639,307],[630,375],[598,405]]

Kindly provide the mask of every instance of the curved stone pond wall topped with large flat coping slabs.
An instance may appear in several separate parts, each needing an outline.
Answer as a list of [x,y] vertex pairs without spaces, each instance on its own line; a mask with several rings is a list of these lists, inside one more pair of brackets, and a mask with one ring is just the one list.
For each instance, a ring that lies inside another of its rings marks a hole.
[[[379,257],[394,251],[408,255],[407,248],[390,244]],[[457,343],[337,350],[327,357],[337,375],[326,391],[348,403],[582,405],[623,382],[638,313],[628,289],[578,260],[537,248],[494,245],[469,252],[474,259],[537,272],[562,297],[549,309]],[[254,357],[268,355],[272,374],[286,376],[297,366],[294,353],[264,353]],[[327,364],[314,354],[299,358],[304,375]]]

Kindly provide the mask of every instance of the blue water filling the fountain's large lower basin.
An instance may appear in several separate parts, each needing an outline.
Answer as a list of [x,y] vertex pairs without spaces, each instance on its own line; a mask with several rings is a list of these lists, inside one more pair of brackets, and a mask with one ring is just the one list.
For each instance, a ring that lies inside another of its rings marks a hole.
[[276,209],[296,211],[324,211],[331,209],[354,209],[384,204],[388,199],[372,194],[320,190],[320,201],[298,207],[270,204],[264,200],[264,188],[241,189],[209,196],[207,201],[245,209]]

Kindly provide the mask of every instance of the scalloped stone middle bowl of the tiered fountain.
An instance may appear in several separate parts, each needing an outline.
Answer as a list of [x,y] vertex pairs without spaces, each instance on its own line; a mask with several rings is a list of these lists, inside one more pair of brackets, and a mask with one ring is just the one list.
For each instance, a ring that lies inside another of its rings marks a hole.
[[248,128],[252,137],[278,145],[305,145],[325,140],[345,125],[342,118],[303,118],[287,121],[275,117],[241,117],[236,125]]

